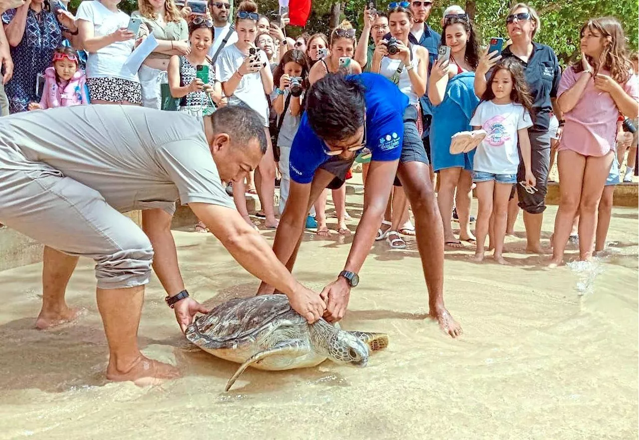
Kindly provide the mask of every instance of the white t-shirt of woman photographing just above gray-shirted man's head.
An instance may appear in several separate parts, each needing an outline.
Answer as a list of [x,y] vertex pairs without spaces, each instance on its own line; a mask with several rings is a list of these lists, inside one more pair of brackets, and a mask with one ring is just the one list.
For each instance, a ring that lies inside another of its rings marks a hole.
[[[264,51],[259,51],[260,59],[268,66],[268,59]],[[220,83],[229,81],[236,70],[240,68],[247,55],[243,54],[235,44],[222,49],[215,62],[215,77]],[[240,80],[233,96],[229,97],[229,104],[245,104],[258,112],[265,127],[268,127],[268,102],[264,85],[259,72],[246,74]]]

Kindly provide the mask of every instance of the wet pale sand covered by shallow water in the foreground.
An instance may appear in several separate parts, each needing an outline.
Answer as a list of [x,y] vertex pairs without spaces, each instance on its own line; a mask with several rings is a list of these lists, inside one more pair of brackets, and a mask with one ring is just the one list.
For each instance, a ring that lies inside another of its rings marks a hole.
[[[356,220],[362,198],[347,200]],[[546,244],[556,207],[547,212]],[[523,231],[521,217],[516,230]],[[215,305],[254,293],[258,281],[212,235],[174,235],[196,299]],[[237,365],[185,341],[157,278],[146,292],[140,340],[184,377],[141,389],[104,379],[93,262],[81,260],[67,294],[86,314],[54,331],[34,329],[42,265],[0,272],[0,438],[637,439],[636,208],[615,208],[608,240],[603,258],[553,271],[524,253],[523,233],[507,238],[513,267],[470,263],[471,248],[447,251],[445,301],[463,326],[458,340],[424,319],[415,240],[393,251],[378,242],[343,327],[388,333],[390,347],[363,369],[330,361],[288,372],[249,368],[229,393],[224,385]],[[350,242],[307,233],[296,276],[323,287],[342,269]]]

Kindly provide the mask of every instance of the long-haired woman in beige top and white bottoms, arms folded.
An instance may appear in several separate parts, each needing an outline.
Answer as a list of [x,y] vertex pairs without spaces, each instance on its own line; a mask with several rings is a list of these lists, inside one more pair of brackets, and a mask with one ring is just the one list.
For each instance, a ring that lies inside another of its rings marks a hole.
[[189,26],[173,0],[138,0],[139,10],[131,17],[142,20],[140,36],[153,35],[157,47],[146,57],[137,74],[142,84],[142,106],[161,109],[162,90],[167,84],[167,68],[173,55],[190,52]]

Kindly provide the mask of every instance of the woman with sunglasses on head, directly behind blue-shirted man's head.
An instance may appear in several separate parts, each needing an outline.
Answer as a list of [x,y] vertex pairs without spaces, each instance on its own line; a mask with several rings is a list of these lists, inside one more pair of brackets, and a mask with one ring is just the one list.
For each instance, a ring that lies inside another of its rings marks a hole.
[[[361,74],[362,68],[359,63],[353,59],[355,54],[355,29],[350,22],[344,20],[330,34],[330,51],[325,58],[319,58],[318,63],[311,67],[309,73],[309,83],[314,84],[318,79],[325,77],[328,73],[343,72],[349,74]],[[348,67],[340,66],[340,59],[348,63]],[[346,185],[339,186],[328,185],[332,189],[333,203],[335,205],[335,214],[337,215],[337,232],[342,235],[349,235],[350,229],[346,226],[346,220],[350,219],[346,212]],[[327,193],[324,191],[315,203],[315,220],[318,223],[318,235],[328,236],[330,230],[326,224],[326,201]]]

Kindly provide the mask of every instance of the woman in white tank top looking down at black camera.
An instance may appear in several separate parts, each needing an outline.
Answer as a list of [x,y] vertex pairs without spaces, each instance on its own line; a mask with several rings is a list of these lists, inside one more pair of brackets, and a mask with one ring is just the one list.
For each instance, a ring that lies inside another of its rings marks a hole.
[[[412,44],[408,40],[408,34],[412,24],[413,15],[410,9],[403,6],[394,6],[387,12],[390,38],[396,41],[396,53],[390,53],[389,41],[383,39],[378,42],[373,54],[373,66],[371,72],[376,72],[397,84],[399,90],[408,97],[411,106],[417,111],[417,131],[422,135],[422,118],[419,105],[419,97],[426,93],[426,81],[428,72],[428,51],[426,48]],[[403,249],[406,243],[399,235],[402,223],[408,221],[408,200],[404,194],[399,179],[392,196],[392,219],[385,237],[389,246],[394,249]],[[410,230],[409,224],[404,230]]]

